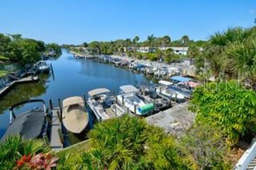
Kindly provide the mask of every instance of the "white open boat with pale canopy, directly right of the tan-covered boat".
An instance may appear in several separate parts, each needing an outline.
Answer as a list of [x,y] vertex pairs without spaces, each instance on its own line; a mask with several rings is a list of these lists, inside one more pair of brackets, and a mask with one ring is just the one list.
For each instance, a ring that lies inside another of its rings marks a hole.
[[109,98],[109,90],[105,88],[94,89],[88,92],[88,105],[99,121],[122,116],[125,111]]

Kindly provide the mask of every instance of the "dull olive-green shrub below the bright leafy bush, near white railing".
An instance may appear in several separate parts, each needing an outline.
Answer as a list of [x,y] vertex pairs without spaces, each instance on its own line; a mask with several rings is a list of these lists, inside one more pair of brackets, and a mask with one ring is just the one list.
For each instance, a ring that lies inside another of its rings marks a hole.
[[181,145],[199,169],[231,169],[228,147],[219,127],[197,123],[185,132]]

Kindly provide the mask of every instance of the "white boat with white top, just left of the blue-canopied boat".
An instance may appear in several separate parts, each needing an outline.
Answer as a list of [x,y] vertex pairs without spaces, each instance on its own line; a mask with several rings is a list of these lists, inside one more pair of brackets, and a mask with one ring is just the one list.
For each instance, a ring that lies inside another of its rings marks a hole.
[[172,82],[160,80],[158,83],[159,86],[156,88],[157,94],[178,100],[185,99],[185,96],[182,95],[180,92],[170,88],[173,85]]

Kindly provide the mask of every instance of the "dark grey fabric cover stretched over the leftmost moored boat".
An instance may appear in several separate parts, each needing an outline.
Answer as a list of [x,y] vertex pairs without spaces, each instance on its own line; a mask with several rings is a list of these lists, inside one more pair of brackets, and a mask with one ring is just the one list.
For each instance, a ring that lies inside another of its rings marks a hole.
[[45,125],[44,112],[40,109],[29,111],[17,116],[6,130],[2,140],[8,135],[20,135],[25,139],[41,137]]

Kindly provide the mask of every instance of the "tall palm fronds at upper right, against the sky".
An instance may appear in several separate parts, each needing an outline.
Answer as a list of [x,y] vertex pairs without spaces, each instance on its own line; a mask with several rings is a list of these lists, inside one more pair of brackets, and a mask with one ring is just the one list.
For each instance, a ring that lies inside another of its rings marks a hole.
[[214,33],[203,52],[205,63],[197,69],[209,69],[217,80],[239,79],[255,87],[255,37],[256,27]]

